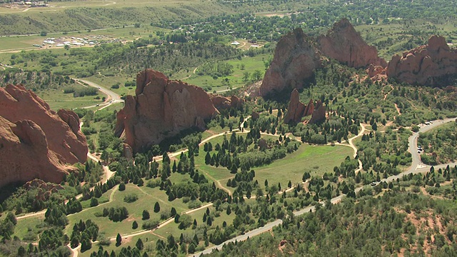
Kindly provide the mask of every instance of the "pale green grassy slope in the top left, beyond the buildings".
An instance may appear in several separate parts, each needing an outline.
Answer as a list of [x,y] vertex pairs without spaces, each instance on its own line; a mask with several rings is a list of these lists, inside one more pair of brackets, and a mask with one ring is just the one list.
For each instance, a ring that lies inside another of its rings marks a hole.
[[[14,19],[0,25],[1,34],[39,34],[102,29],[124,25],[180,21],[221,14],[227,6],[212,1],[74,1],[51,3],[49,7],[9,9],[3,5],[0,16]],[[103,7],[103,8],[101,8]],[[71,17],[71,19],[69,19]],[[58,26],[57,26],[58,25]]]

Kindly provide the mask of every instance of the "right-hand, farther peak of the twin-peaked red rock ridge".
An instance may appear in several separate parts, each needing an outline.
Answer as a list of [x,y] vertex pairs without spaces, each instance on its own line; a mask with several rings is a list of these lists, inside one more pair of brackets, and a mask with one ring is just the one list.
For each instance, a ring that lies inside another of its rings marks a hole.
[[386,61],[378,57],[376,47],[368,46],[348,19],[341,19],[333,24],[327,34],[319,36],[317,41],[318,49],[324,56],[336,59],[347,66],[387,66]]

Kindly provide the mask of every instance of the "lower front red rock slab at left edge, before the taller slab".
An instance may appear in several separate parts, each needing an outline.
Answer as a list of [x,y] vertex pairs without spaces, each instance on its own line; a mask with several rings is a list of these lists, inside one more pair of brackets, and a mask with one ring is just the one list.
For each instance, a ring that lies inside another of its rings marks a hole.
[[34,178],[59,183],[71,167],[49,149],[41,127],[34,121],[11,121],[0,116],[0,187]]

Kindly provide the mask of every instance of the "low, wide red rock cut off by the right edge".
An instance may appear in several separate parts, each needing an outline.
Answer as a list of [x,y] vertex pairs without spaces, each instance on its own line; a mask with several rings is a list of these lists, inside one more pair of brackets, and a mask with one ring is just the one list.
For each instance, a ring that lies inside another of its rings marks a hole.
[[447,86],[441,81],[456,74],[457,51],[449,48],[443,36],[431,36],[428,45],[393,56],[387,67],[389,78],[428,86]]

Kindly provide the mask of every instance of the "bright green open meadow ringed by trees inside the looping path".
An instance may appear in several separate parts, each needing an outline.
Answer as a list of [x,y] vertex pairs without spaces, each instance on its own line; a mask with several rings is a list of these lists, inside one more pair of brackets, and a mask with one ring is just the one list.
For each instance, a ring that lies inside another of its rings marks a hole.
[[305,171],[311,176],[322,176],[323,173],[333,172],[334,166],[339,166],[346,156],[352,156],[353,150],[348,146],[314,146],[302,144],[297,151],[273,163],[258,168],[256,176],[260,186],[268,180],[268,185],[281,183],[286,188],[290,180],[292,184],[299,183]]

